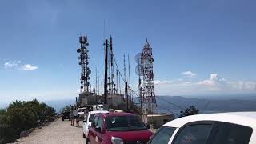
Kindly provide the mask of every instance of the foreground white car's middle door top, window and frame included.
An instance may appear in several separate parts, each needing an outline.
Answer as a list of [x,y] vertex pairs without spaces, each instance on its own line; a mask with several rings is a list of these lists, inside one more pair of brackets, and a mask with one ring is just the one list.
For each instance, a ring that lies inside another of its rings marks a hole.
[[171,144],[210,144],[216,122],[190,122],[182,126]]

